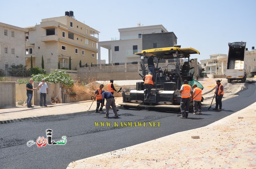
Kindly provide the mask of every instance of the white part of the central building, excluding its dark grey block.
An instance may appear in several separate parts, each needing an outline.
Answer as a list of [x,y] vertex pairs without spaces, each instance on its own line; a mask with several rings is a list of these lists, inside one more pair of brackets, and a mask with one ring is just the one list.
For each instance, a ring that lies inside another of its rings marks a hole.
[[163,25],[140,26],[118,29],[120,37],[111,41],[98,42],[98,64],[100,63],[100,47],[108,49],[108,63],[140,61],[136,52],[142,50],[142,35],[168,32]]

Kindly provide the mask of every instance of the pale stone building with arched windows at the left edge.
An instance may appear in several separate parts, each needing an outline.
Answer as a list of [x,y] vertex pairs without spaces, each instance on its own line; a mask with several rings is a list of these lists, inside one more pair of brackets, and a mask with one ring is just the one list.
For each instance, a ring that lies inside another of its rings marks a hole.
[[0,22],[0,69],[11,65],[25,65],[25,33],[27,29]]

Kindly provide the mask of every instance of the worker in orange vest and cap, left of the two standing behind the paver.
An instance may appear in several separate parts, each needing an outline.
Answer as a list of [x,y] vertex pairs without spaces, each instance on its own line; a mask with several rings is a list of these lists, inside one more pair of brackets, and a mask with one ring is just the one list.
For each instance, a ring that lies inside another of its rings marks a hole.
[[[193,98],[193,90],[190,85],[188,85],[188,80],[184,80],[184,84],[180,88],[181,100],[180,100],[180,118],[188,118],[189,111],[189,102],[190,102],[190,94]],[[186,110],[185,110],[186,107]]]

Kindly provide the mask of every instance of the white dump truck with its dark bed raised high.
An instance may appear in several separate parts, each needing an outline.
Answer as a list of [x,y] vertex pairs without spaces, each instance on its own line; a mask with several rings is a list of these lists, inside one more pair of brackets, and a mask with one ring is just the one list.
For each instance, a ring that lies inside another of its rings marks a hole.
[[228,43],[228,62],[227,62],[227,79],[228,83],[232,80],[246,80],[245,72],[245,46],[246,42]]

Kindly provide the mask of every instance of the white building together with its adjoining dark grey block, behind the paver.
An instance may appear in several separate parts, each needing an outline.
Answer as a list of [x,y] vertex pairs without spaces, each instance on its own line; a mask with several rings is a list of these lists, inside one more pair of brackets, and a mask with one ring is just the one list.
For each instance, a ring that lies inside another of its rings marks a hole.
[[[121,28],[118,31],[120,37],[112,38],[111,41],[98,42],[98,64],[101,58],[100,47],[108,49],[108,63],[119,63],[140,61],[140,57],[134,53],[144,49],[172,47],[177,44],[175,34],[169,33],[163,25],[138,25],[137,27]],[[149,36],[153,34],[154,36]],[[143,46],[142,39],[145,39]]]

